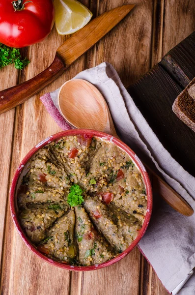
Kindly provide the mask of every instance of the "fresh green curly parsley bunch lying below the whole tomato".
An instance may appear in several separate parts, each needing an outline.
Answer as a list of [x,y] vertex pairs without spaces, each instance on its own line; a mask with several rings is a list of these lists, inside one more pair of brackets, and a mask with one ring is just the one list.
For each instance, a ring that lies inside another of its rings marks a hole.
[[22,70],[29,62],[27,58],[21,58],[18,48],[8,47],[0,43],[0,69],[14,63],[16,69]]

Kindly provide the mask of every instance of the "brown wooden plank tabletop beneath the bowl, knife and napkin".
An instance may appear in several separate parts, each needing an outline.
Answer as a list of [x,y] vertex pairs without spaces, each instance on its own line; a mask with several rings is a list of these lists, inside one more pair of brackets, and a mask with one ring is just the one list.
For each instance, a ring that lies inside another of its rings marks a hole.
[[[131,0],[83,0],[96,16]],[[38,142],[61,131],[39,97],[80,71],[111,62],[127,87],[195,30],[194,0],[134,0],[134,10],[54,83],[16,109],[0,115],[0,294],[1,295],[167,295],[152,267],[134,249],[119,263],[92,272],[70,272],[42,262],[14,228],[9,187],[14,172]],[[0,89],[24,82],[44,70],[68,37],[54,28],[40,44],[22,50],[30,64],[23,71],[0,70]]]

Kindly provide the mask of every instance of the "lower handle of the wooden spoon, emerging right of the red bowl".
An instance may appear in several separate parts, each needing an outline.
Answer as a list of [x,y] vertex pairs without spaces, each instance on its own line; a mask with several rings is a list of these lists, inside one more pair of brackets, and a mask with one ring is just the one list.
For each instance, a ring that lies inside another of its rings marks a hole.
[[170,207],[185,216],[191,216],[194,213],[193,208],[168,185],[167,182],[148,167],[147,171],[150,175],[153,190],[156,191]]

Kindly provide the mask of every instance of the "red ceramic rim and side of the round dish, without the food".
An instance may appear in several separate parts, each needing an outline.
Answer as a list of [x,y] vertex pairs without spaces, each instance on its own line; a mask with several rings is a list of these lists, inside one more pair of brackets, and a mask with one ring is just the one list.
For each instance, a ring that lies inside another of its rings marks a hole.
[[[132,242],[132,244],[124,252],[119,254],[117,257],[109,260],[108,262],[105,262],[105,263],[102,263],[102,264],[99,264],[99,265],[94,265],[94,266],[70,266],[70,265],[67,265],[67,264],[62,264],[62,263],[56,262],[56,261],[44,256],[41,252],[39,252],[36,249],[36,247],[30,242],[28,237],[25,235],[25,233],[23,232],[23,229],[20,226],[20,223],[19,223],[19,220],[18,220],[18,217],[17,217],[18,216],[17,192],[18,192],[19,186],[21,184],[22,177],[24,175],[26,175],[26,173],[28,171],[27,167],[28,167],[29,159],[40,148],[43,148],[45,145],[47,145],[47,144],[49,144],[49,143],[51,143],[53,141],[57,141],[61,137],[69,136],[69,135],[82,135],[82,134],[90,134],[92,136],[99,137],[99,138],[102,138],[104,140],[110,141],[113,144],[115,144],[117,147],[124,150],[132,158],[134,163],[139,168],[139,170],[140,170],[140,172],[142,174],[144,183],[145,183],[146,192],[147,192],[147,196],[148,196],[146,215],[145,215],[143,225],[142,225],[142,227],[141,227],[141,229],[139,231],[139,235],[137,236],[137,238]],[[145,231],[147,229],[148,223],[150,221],[151,212],[152,212],[152,188],[151,188],[150,179],[148,177],[146,169],[143,166],[143,164],[141,163],[141,161],[139,160],[139,157],[135,154],[135,152],[131,148],[129,148],[122,141],[120,141],[119,139],[117,139],[117,138],[115,138],[115,137],[113,137],[113,136],[111,136],[109,134],[99,132],[99,131],[95,131],[95,130],[72,129],[72,130],[62,131],[62,132],[59,132],[59,133],[56,133],[54,135],[49,136],[48,138],[46,138],[45,140],[43,140],[42,142],[37,144],[34,148],[32,148],[28,152],[28,154],[25,156],[25,158],[22,160],[19,167],[17,168],[16,173],[14,175],[14,178],[12,180],[11,189],[10,189],[10,208],[11,208],[11,215],[12,215],[12,218],[13,218],[13,222],[14,222],[14,224],[16,226],[16,229],[17,229],[19,235],[22,237],[25,244],[28,246],[28,248],[30,248],[30,250],[34,254],[36,254],[38,257],[40,257],[44,261],[52,264],[53,266],[58,266],[58,267],[61,267],[61,268],[64,268],[64,269],[74,270],[74,271],[88,271],[88,270],[100,269],[100,268],[103,268],[103,267],[106,267],[106,266],[111,266],[112,264],[114,264],[117,261],[124,258],[127,254],[129,254],[135,248],[135,246],[138,244],[141,237],[144,235],[144,233],[145,233]]]

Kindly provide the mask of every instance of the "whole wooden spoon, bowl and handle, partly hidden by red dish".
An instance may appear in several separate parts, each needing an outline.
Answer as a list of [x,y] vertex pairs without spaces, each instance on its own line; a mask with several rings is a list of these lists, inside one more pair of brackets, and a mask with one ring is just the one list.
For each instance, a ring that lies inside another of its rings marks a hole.
[[[72,126],[95,129],[119,138],[104,97],[91,83],[82,79],[67,81],[59,90],[58,104],[63,117]],[[194,213],[192,207],[161,177],[148,167],[147,170],[153,189],[172,208],[186,216]]]

